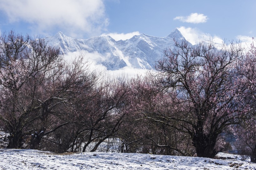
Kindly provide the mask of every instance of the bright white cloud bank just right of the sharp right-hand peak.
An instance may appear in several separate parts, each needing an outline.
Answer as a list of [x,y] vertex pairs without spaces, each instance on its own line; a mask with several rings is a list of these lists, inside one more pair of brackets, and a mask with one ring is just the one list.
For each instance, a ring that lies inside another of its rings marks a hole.
[[199,43],[203,40],[209,40],[211,39],[214,43],[222,44],[223,40],[219,38],[218,36],[211,36],[208,33],[203,33],[202,31],[196,29],[196,28],[186,28],[184,26],[181,26],[180,28],[177,28],[181,34],[185,37],[187,41],[189,41],[192,45]]

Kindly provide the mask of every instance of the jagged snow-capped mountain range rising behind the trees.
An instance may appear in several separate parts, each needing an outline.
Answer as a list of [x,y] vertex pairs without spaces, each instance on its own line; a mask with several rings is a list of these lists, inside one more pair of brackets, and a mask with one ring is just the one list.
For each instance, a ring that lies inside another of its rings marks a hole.
[[[47,37],[49,44],[60,47],[63,54],[85,51],[89,59],[102,64],[109,70],[118,70],[129,66],[150,69],[155,61],[163,56],[166,48],[185,39],[178,29],[166,37],[154,37],[146,34],[135,35],[131,39],[115,41],[110,36],[96,36],[89,39],[73,39],[62,32]],[[95,59],[95,55],[97,59]]]

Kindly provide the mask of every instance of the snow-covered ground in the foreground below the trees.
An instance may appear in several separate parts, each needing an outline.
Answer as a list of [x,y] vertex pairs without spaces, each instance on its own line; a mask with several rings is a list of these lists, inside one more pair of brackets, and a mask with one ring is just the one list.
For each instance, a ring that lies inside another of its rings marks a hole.
[[54,154],[32,149],[0,149],[0,169],[256,169],[255,163],[239,160],[235,155],[220,153],[219,156],[229,159],[102,152]]

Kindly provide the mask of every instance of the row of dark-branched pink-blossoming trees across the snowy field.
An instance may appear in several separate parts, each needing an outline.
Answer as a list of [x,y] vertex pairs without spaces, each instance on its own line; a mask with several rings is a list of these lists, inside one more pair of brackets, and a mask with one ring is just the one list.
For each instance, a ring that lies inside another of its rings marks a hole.
[[256,162],[255,56],[254,44],[175,41],[156,71],[111,78],[42,38],[3,33],[1,146],[119,151],[125,140],[126,152],[213,158],[233,135]]

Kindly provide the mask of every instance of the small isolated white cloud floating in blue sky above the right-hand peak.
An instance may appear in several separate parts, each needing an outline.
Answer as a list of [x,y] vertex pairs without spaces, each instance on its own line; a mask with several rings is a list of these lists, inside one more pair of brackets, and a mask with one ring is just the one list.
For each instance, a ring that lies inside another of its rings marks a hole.
[[204,23],[208,20],[209,18],[205,16],[204,14],[199,14],[199,13],[191,13],[189,16],[176,16],[174,20],[180,20],[182,22],[188,22],[188,23]]

